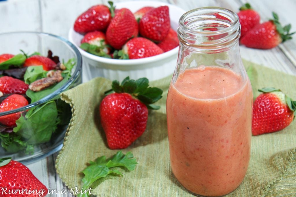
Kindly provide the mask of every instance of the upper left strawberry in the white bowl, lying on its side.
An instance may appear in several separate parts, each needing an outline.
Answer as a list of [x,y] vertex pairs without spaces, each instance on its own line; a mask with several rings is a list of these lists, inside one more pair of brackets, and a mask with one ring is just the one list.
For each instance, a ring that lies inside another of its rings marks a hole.
[[75,20],[74,30],[81,34],[106,30],[112,18],[110,9],[102,4],[92,6]]

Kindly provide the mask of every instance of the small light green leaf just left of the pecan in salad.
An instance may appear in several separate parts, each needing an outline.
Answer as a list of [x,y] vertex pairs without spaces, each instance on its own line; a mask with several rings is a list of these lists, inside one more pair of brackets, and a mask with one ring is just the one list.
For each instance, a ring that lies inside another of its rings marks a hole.
[[43,70],[43,66],[29,66],[25,72],[24,80],[26,84],[46,77],[47,71]]

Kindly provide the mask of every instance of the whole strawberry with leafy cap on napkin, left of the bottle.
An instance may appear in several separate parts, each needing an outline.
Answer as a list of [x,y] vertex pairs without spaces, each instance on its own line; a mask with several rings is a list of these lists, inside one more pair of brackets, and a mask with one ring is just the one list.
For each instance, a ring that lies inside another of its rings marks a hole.
[[101,124],[110,149],[124,149],[139,138],[145,131],[148,108],[159,109],[152,105],[162,96],[163,91],[149,87],[147,78],[132,80],[127,77],[121,84],[112,82],[114,91],[104,97],[100,104]]

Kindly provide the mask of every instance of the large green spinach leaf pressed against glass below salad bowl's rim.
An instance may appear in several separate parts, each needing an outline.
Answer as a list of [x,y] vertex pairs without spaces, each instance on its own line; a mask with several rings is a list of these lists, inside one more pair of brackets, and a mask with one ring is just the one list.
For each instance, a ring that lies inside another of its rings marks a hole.
[[17,121],[13,131],[25,138],[28,144],[45,143],[50,140],[57,128],[57,106],[55,101],[30,109],[27,114]]

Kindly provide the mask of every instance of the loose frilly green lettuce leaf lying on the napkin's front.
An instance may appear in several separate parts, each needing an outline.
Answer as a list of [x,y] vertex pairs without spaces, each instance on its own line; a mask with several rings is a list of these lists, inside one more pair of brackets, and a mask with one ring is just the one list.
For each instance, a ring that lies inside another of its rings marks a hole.
[[[133,158],[131,152],[124,155],[121,151],[117,152],[111,159],[106,159],[106,156],[97,158],[94,162],[90,161],[89,166],[86,167],[82,172],[84,178],[82,179],[82,190],[86,191],[91,188],[91,185],[100,178],[106,177],[111,173],[122,175],[119,170],[110,169],[112,167],[126,167],[128,170],[134,170],[137,164],[136,159]],[[78,195],[83,196],[83,195]],[[85,195],[84,195],[85,196]]]

